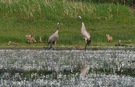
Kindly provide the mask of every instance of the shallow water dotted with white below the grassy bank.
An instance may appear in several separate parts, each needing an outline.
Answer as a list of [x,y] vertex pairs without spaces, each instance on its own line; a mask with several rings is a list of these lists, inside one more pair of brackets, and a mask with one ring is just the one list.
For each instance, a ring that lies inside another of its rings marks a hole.
[[[80,78],[84,65],[90,71]],[[134,68],[130,49],[1,49],[0,87],[134,87]]]

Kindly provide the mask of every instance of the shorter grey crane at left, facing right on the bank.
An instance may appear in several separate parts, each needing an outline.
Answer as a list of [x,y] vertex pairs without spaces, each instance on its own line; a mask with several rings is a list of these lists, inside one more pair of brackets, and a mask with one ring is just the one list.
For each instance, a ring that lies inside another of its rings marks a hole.
[[60,23],[58,22],[57,23],[57,30],[56,30],[56,32],[54,34],[52,34],[49,37],[49,39],[48,39],[48,44],[50,45],[49,49],[53,48],[52,45],[53,44],[56,44],[56,42],[57,42],[57,40],[59,38],[59,35],[58,35],[58,33],[59,33],[59,27],[60,27]]

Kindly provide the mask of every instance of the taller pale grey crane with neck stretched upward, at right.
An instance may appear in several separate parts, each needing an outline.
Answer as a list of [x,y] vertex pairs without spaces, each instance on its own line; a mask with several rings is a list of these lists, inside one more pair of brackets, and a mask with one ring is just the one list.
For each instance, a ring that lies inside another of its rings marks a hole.
[[82,22],[81,34],[82,34],[82,36],[83,36],[83,38],[85,39],[85,42],[86,42],[86,44],[85,44],[85,50],[86,50],[86,47],[91,44],[91,37],[90,37],[90,34],[88,33],[88,31],[87,31],[87,29],[84,25],[82,17],[79,16],[79,18],[81,19],[81,22]]

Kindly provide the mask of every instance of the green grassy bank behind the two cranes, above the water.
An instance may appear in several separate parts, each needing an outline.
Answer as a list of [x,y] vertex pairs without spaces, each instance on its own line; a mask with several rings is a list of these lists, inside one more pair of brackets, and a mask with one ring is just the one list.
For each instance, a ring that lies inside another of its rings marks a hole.
[[[114,46],[118,40],[126,44],[135,43],[134,9],[114,4],[92,4],[85,2],[63,2],[47,0],[0,1],[0,46],[8,47],[8,41],[19,43],[19,47],[48,46],[50,34],[56,23],[62,23],[57,46],[82,47],[80,35],[81,15],[91,34],[92,46]],[[113,36],[107,43],[105,34]],[[25,35],[32,34],[45,43],[27,44]]]

